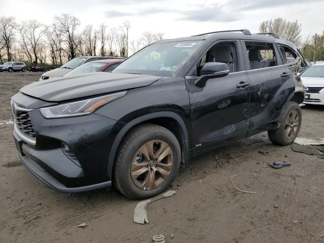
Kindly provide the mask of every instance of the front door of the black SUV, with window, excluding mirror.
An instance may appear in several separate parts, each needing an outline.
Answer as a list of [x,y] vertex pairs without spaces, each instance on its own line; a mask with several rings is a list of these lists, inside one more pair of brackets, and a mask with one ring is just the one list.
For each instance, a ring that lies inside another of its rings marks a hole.
[[210,150],[218,141],[247,136],[250,83],[241,55],[239,42],[217,43],[197,62],[196,75],[210,61],[227,63],[230,73],[211,78],[198,89],[190,87],[197,77],[186,77],[193,155]]

